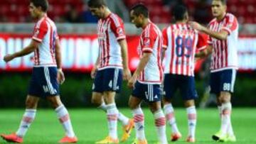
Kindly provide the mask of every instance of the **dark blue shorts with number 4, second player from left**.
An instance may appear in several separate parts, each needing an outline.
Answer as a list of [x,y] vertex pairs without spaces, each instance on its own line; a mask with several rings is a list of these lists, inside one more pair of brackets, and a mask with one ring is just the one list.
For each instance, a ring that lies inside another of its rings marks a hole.
[[98,70],[95,80],[92,84],[93,92],[120,92],[122,88],[122,69],[120,68],[107,68]]

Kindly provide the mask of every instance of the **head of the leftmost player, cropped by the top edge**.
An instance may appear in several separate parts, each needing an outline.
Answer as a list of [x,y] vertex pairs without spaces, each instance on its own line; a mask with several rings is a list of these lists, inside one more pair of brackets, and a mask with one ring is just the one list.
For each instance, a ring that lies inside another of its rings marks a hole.
[[38,18],[38,16],[41,16],[41,13],[46,13],[47,10],[47,0],[30,0],[29,12],[31,13],[32,18]]

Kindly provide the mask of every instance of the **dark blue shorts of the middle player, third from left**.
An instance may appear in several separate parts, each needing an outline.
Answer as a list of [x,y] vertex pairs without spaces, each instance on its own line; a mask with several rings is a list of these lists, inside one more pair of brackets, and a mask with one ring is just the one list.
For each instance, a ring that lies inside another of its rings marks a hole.
[[161,101],[162,89],[160,84],[142,84],[136,82],[132,96],[143,99],[146,102]]

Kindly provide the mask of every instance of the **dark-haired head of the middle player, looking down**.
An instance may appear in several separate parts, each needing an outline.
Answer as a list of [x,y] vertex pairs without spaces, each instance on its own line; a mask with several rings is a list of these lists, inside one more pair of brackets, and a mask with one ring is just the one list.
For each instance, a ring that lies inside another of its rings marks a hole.
[[137,28],[142,28],[144,18],[149,18],[149,10],[144,4],[137,4],[130,10],[130,18]]

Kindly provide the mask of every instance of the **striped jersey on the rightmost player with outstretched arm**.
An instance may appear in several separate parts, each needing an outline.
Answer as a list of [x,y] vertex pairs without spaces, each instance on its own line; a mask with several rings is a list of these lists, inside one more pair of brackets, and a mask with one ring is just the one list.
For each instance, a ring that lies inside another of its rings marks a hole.
[[227,31],[226,40],[209,38],[208,43],[213,46],[210,70],[216,72],[220,70],[235,68],[238,69],[238,20],[231,13],[226,13],[221,21],[214,18],[208,27],[211,31]]

